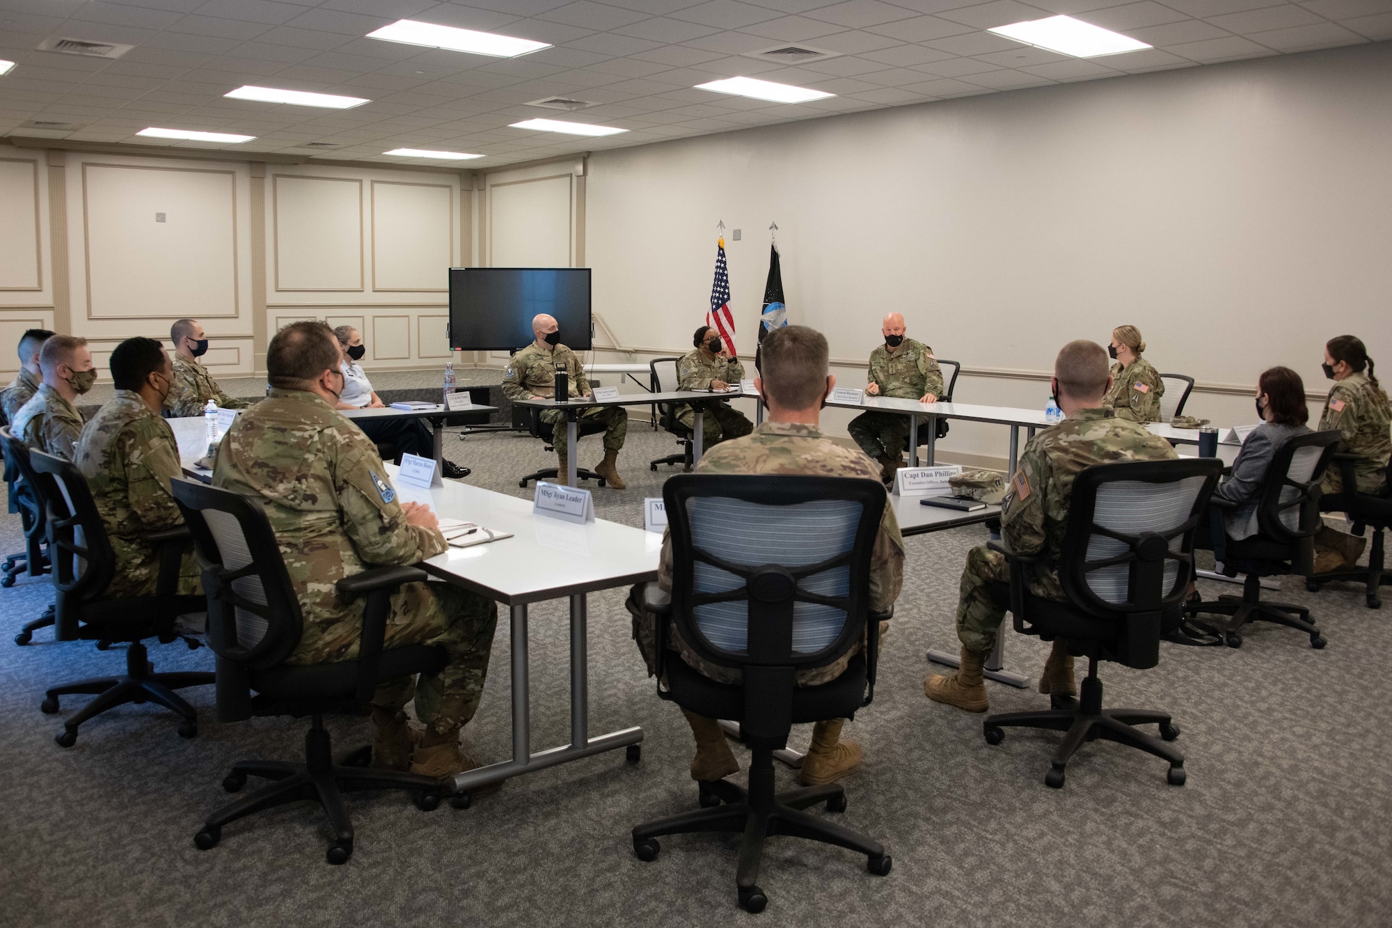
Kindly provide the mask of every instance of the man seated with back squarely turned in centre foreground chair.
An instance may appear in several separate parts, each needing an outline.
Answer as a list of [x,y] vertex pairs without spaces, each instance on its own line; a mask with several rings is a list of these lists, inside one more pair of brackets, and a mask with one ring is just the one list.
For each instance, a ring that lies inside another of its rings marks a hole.
[[[697,474],[810,474],[816,477],[880,478],[878,470],[855,449],[842,447],[823,436],[817,428],[821,401],[831,393],[835,378],[828,373],[827,339],[807,326],[785,326],[764,336],[763,378],[759,393],[768,407],[768,421],[753,435],[722,442],[700,458]],[[663,539],[658,567],[658,588],[672,588],[671,539]],[[870,562],[870,609],[885,612],[899,595],[903,584],[903,538],[894,509],[888,504],[880,520],[880,532]],[[656,667],[656,621],[653,613],[642,609],[643,585],[633,588],[629,612],[633,613],[633,637],[647,670]],[[670,641],[682,660],[702,674],[720,683],[736,683],[741,672],[707,663],[696,656],[675,634]],[[845,672],[851,654],[825,667],[798,672],[798,686],[810,687],[835,680]],[[696,758],[692,779],[718,780],[739,771],[739,764],[725,741],[720,723],[682,709],[696,737]],[[832,783],[860,766],[860,745],[841,741],[845,719],[817,722],[812,733],[812,747],[802,761],[799,773],[807,786]]]

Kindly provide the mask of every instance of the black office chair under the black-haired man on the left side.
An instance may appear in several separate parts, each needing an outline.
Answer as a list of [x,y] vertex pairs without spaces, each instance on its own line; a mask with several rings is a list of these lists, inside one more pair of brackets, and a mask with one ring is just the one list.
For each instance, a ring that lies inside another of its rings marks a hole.
[[128,642],[124,676],[67,683],[45,694],[39,708],[49,715],[58,711],[58,697],[96,694],[63,723],[63,732],[54,740],[61,747],[72,747],[78,740],[78,726],[88,719],[114,706],[146,699],[182,716],[178,733],[193,737],[198,734],[198,713],[174,690],[206,686],[213,683],[213,674],[153,673],[145,648],[145,638],[157,638],[160,644],[184,638],[189,648],[199,647],[198,641],[174,630],[180,616],[205,609],[202,596],[175,594],[180,563],[189,548],[188,529],[178,527],[142,535],[160,552],[160,575],[153,596],[109,598],[106,592],[116,575],[116,553],[86,479],[71,463],[43,451],[31,450],[29,463],[36,475],[33,485],[46,509],[58,640],[95,640],[99,649],[113,642]]

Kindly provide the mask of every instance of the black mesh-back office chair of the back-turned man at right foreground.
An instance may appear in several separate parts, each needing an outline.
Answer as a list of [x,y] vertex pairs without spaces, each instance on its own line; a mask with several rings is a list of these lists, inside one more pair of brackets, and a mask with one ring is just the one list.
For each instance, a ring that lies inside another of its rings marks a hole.
[[[1222,461],[1128,461],[1089,467],[1073,481],[1065,556],[1058,573],[1065,602],[1030,592],[1026,573],[1043,555],[1019,555],[1005,542],[988,542],[1011,564],[1011,613],[1015,630],[1062,640],[1072,655],[1087,658],[1087,676],[1076,706],[1044,712],[1004,712],[983,722],[988,744],[1005,727],[1066,732],[1044,783],[1063,786],[1068,761],[1086,741],[1104,738],[1169,761],[1168,780],[1185,782],[1185,755],[1165,744],[1179,737],[1168,712],[1104,709],[1098,660],[1147,670],[1160,663],[1160,640],[1179,626],[1185,589],[1194,575],[1193,541]],[[1077,556],[1077,555],[1082,556]],[[1158,725],[1160,738],[1137,730]]]

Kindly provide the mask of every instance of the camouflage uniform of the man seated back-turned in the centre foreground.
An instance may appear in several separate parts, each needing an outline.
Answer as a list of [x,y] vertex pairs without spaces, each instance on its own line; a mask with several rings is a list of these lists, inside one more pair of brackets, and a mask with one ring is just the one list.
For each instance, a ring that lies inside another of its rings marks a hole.
[[[753,435],[721,444],[700,458],[697,474],[805,474],[812,477],[863,477],[878,482],[880,471],[859,451],[837,444],[825,438],[814,425],[796,422],[764,422]],[[657,585],[664,592],[672,591],[672,541],[663,536],[663,556],[657,569]],[[894,605],[903,585],[903,538],[899,535],[899,521],[894,507],[885,503],[880,517],[880,532],[874,539],[870,559],[870,609],[885,612]],[[640,609],[643,584],[633,588],[629,596],[629,612],[633,613],[633,640],[647,662],[651,674],[657,666],[657,621],[653,613]],[[724,667],[702,660],[681,635],[672,630],[668,637],[682,660],[702,674],[718,683],[738,683],[743,673],[738,667]],[[824,667],[812,667],[796,673],[798,686],[813,687],[835,680],[846,669],[853,652],[844,655]]]

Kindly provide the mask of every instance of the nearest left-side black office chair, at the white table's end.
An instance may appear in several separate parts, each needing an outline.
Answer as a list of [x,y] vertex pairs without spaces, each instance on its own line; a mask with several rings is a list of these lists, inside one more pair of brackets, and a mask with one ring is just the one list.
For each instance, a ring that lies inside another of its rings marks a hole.
[[[209,815],[193,843],[209,850],[221,840],[228,822],[295,800],[310,800],[323,807],[334,832],[326,858],[330,864],[344,864],[354,846],[344,791],[411,790],[418,808],[436,808],[443,791],[440,780],[334,764],[324,729],[326,712],[361,715],[383,680],[433,673],[444,666],[444,649],[433,645],[383,649],[391,594],[402,584],[425,580],[425,571],[379,567],[340,580],[340,594],[367,599],[358,659],[287,665],[285,658],[299,644],[303,626],[299,599],[266,511],[252,497],[184,479],[174,481],[174,499],[205,564],[207,644],[217,655],[219,722],[263,715],[312,716],[305,734],[305,762],[234,764],[223,780],[228,793],[241,790],[248,776],[273,782]],[[366,761],[367,757],[370,751],[359,750],[349,759]]]

